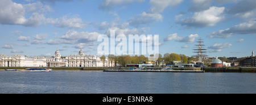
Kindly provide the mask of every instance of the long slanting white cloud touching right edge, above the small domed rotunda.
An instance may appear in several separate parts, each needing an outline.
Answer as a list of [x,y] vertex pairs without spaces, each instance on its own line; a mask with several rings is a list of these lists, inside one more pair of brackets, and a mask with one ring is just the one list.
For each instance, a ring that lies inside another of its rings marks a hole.
[[256,34],[256,22],[249,21],[245,23],[238,24],[231,28],[225,30],[220,30],[217,32],[210,33],[210,38],[227,38],[233,35],[243,35],[243,34]]

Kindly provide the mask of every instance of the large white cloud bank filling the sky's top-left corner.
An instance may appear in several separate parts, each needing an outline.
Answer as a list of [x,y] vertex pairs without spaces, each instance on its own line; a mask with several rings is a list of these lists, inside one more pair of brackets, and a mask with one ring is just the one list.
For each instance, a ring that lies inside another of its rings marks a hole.
[[86,27],[78,15],[64,15],[57,19],[46,18],[45,14],[49,11],[53,11],[51,7],[39,1],[22,5],[11,0],[2,0],[0,1],[0,24],[38,27],[42,23],[51,23],[61,28],[83,29]]

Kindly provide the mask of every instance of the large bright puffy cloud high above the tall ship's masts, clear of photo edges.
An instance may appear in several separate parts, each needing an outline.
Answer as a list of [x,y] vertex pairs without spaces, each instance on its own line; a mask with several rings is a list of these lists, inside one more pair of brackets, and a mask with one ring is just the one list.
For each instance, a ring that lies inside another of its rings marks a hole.
[[217,23],[221,22],[224,19],[222,13],[224,12],[225,7],[215,7],[212,6],[208,10],[195,12],[192,17],[187,19],[179,20],[179,24],[185,27],[196,27],[203,28],[208,26],[215,26]]

